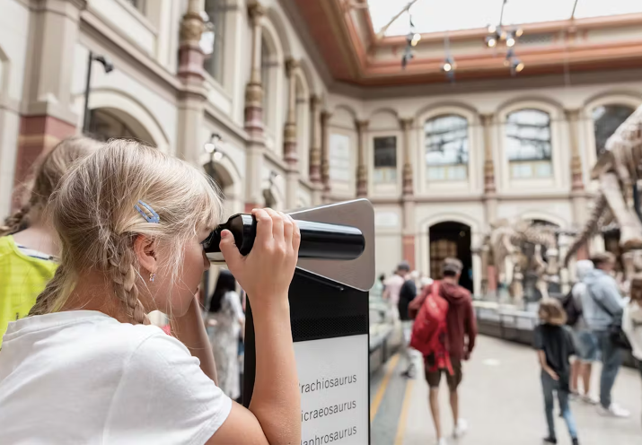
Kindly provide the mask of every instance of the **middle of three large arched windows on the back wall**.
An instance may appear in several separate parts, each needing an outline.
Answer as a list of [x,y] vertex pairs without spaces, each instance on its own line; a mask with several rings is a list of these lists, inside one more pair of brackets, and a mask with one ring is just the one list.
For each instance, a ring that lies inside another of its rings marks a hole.
[[550,115],[519,109],[506,118],[506,156],[513,179],[550,178]]

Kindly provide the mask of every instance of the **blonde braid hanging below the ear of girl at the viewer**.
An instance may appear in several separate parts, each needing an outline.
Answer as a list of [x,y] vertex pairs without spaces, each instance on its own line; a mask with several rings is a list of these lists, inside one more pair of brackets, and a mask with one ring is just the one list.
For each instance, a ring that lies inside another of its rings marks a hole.
[[[124,239],[130,239],[124,237]],[[109,270],[114,293],[118,299],[125,303],[128,316],[136,323],[146,324],[147,316],[143,303],[138,300],[138,287],[136,286],[136,268],[134,267],[134,250],[125,246],[125,242],[116,247],[116,252],[109,259]]]

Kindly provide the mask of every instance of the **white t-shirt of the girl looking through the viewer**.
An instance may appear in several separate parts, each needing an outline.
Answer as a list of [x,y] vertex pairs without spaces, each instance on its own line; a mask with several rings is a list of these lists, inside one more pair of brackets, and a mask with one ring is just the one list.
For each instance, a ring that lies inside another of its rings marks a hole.
[[159,327],[75,310],[9,323],[0,442],[203,444],[232,408]]

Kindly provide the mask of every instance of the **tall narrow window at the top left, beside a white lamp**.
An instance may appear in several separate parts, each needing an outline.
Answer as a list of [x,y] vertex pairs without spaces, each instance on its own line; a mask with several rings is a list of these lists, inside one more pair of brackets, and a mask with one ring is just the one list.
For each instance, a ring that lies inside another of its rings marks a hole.
[[225,0],[205,0],[207,18],[201,37],[205,70],[218,83],[223,83],[225,6]]

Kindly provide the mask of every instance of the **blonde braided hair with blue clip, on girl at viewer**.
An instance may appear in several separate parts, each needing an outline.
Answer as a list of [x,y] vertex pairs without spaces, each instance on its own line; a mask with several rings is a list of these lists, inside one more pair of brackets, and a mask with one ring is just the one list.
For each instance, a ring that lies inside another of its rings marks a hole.
[[[149,223],[136,211],[139,200],[154,209],[160,223]],[[80,162],[49,205],[61,239],[61,262],[30,314],[60,310],[79,273],[92,269],[110,280],[113,294],[136,323],[144,323],[149,311],[138,299],[145,280],[133,249],[136,235],[168,243],[170,253],[159,258],[160,268],[171,273],[173,282],[186,240],[203,227],[214,227],[223,208],[214,182],[187,162],[127,140],[111,140]]]

